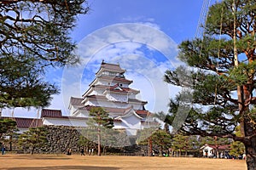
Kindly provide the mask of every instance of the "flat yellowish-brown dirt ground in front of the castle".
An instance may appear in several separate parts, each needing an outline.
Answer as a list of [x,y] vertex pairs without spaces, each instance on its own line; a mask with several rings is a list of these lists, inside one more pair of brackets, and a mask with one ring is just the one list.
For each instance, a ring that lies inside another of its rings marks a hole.
[[244,160],[177,158],[148,156],[66,156],[66,155],[4,155],[0,156],[0,169],[160,169],[160,170],[246,170]]

